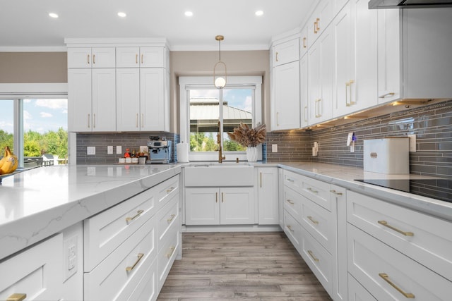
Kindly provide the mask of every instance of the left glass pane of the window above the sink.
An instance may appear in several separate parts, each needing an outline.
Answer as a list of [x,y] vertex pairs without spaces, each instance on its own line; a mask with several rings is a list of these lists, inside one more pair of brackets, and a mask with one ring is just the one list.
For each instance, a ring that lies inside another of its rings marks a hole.
[[217,150],[219,109],[218,90],[190,90],[190,151]]

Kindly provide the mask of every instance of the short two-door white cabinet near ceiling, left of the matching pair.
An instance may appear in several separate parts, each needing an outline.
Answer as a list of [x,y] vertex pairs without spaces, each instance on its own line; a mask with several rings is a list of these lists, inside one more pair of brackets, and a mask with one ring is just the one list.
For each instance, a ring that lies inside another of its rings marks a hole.
[[114,68],[114,47],[69,47],[68,68]]

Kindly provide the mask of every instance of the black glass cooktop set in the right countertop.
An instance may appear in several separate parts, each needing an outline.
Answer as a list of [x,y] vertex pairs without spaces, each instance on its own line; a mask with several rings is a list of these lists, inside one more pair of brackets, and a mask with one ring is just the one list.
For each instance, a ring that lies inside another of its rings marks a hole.
[[364,179],[357,181],[452,203],[452,179]]

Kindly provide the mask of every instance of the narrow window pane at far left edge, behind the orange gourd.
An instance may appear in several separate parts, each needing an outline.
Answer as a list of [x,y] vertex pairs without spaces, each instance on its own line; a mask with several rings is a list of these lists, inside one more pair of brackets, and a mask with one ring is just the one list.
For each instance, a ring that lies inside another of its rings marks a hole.
[[14,152],[14,101],[12,99],[0,99],[0,158],[4,155],[4,149],[8,146]]

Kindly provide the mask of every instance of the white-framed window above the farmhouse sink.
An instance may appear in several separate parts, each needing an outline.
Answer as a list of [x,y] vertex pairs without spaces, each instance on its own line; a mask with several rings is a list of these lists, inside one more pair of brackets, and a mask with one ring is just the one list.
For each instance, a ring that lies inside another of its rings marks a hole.
[[261,77],[229,77],[226,87],[219,90],[213,78],[179,78],[181,141],[189,143],[191,161],[217,160],[220,145],[227,161],[246,159],[246,148],[227,133],[241,122],[250,127],[261,123],[261,81]]

